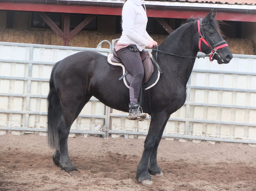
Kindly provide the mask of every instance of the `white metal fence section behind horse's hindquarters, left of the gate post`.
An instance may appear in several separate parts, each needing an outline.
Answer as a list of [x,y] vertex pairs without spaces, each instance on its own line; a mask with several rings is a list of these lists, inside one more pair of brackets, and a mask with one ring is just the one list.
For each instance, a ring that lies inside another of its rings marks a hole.
[[[35,128],[35,131],[45,129],[48,81],[53,65],[69,55],[85,50],[94,50],[104,55],[108,55],[110,51],[110,49],[70,49],[70,47],[59,46],[0,43],[2,53],[0,56],[0,126],[9,129],[23,128],[27,131],[31,128]],[[104,104],[92,98],[80,114],[87,118],[78,117],[71,129],[99,131],[105,121],[104,108]],[[90,118],[92,114],[94,118]],[[104,135],[104,132],[98,132],[98,134]]]

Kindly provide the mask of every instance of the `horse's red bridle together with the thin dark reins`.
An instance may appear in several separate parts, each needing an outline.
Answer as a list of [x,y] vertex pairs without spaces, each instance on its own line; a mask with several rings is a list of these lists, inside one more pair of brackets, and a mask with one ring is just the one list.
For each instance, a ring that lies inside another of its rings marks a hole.
[[205,34],[204,34],[204,30],[203,30],[203,25],[208,25],[210,23],[202,23],[202,20],[203,19],[198,19],[197,20],[197,24],[198,24],[198,33],[199,33],[199,41],[198,41],[198,47],[199,47],[199,50],[202,52],[201,50],[201,43],[205,43],[210,49],[211,49],[211,52],[207,55],[204,55],[204,56],[196,56],[196,57],[187,57],[187,56],[180,56],[180,55],[175,55],[175,54],[171,54],[171,53],[167,53],[167,52],[164,52],[164,51],[160,51],[158,50],[158,46],[156,46],[156,49],[153,49],[152,50],[155,50],[156,53],[155,53],[155,57],[156,57],[156,62],[157,62],[157,53],[158,52],[162,52],[162,53],[165,53],[165,54],[169,54],[169,55],[173,55],[173,56],[178,56],[178,57],[183,57],[183,58],[205,58],[205,57],[208,57],[209,56],[209,59],[210,59],[210,62],[213,62],[213,56],[215,54],[218,55],[217,53],[217,50],[218,49],[221,49],[223,47],[227,47],[228,44],[226,43],[226,41],[220,41],[219,43],[215,44],[214,46],[211,46],[211,44],[208,42],[208,40],[205,39]]

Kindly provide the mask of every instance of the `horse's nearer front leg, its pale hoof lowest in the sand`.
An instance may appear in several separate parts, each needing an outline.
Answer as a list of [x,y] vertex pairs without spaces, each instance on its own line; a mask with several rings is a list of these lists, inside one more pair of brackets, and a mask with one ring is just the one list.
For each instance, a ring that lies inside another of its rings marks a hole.
[[[144,151],[143,151],[140,163],[136,170],[137,180],[143,185],[150,185],[153,183],[152,177],[150,176],[148,171],[148,169],[151,169],[150,166],[148,166],[150,164],[149,163],[150,155],[156,143],[159,140],[159,134],[162,134],[161,133],[162,127],[164,124],[166,124],[166,120],[169,118],[169,116],[170,115],[168,115],[166,112],[159,112],[159,113],[153,113],[153,114],[151,113],[151,122],[149,125],[148,134],[144,143]],[[154,152],[157,152],[157,149]],[[154,157],[152,157],[152,159],[154,159]]]

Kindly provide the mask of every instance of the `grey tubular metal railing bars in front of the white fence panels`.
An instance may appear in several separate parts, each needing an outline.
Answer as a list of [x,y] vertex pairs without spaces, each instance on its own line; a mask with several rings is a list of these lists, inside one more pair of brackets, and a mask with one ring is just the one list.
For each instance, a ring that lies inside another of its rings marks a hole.
[[[31,82],[48,82],[49,79],[46,78],[33,78],[32,77],[32,67],[33,65],[54,65],[55,62],[47,61],[34,61],[33,60],[33,50],[34,48],[42,49],[60,49],[60,50],[75,50],[75,51],[97,51],[103,54],[112,53],[112,47],[114,46],[115,41],[112,43],[107,42],[110,46],[109,49],[102,49],[102,43],[107,41],[102,41],[97,49],[95,48],[78,48],[78,47],[61,47],[61,46],[49,46],[49,45],[32,45],[32,44],[20,44],[20,43],[4,43],[0,42],[0,46],[17,46],[17,47],[29,47],[29,60],[15,60],[15,59],[2,59],[0,58],[0,63],[19,63],[19,64],[28,64],[28,77],[15,77],[15,76],[0,76],[0,80],[19,80],[26,81],[27,83],[27,92],[25,94],[15,94],[15,93],[0,93],[0,96],[7,97],[25,97],[26,98],[26,110],[13,110],[13,109],[0,109],[0,113],[5,114],[22,114],[24,115],[24,127],[12,127],[12,126],[0,126],[0,130],[15,130],[15,131],[33,131],[33,132],[46,132],[46,128],[31,128],[28,125],[28,120],[30,115],[47,115],[47,112],[40,111],[31,111],[29,109],[30,98],[42,98],[46,99],[47,95],[36,95],[31,94]],[[199,53],[200,55],[200,53]],[[245,56],[245,55],[234,55],[235,58],[252,58],[256,59],[256,56]],[[193,70],[196,73],[209,73],[209,74],[234,74],[234,75],[246,75],[246,76],[256,76],[254,72],[232,72],[232,71],[211,71],[211,70]],[[214,90],[214,91],[229,91],[229,92],[245,92],[245,93],[256,93],[256,90],[253,89],[236,89],[236,88],[221,88],[221,87],[208,87],[208,86],[193,86],[191,85],[191,78],[187,84],[187,100],[184,104],[185,106],[185,118],[170,117],[169,121],[181,121],[185,122],[185,131],[184,134],[169,134],[164,133],[163,137],[171,138],[184,138],[184,139],[199,139],[199,140],[210,140],[210,141],[223,141],[223,142],[238,142],[238,143],[251,143],[256,144],[256,140],[249,139],[233,139],[233,138],[218,138],[218,137],[207,137],[207,136],[196,136],[189,134],[189,124],[190,123],[211,123],[211,124],[222,124],[222,125],[236,125],[236,126],[250,126],[256,127],[256,123],[246,123],[246,122],[234,122],[234,121],[218,121],[218,120],[206,120],[206,119],[193,119],[189,116],[190,106],[206,106],[206,107],[223,107],[223,108],[235,108],[235,109],[249,109],[256,110],[255,106],[243,106],[243,105],[229,105],[229,104],[213,104],[213,103],[204,103],[204,102],[191,102],[189,100],[191,90]],[[90,101],[99,101],[98,99],[92,97]],[[81,134],[98,134],[103,135],[105,138],[109,137],[109,134],[123,134],[125,137],[128,135],[147,135],[147,132],[140,131],[122,131],[122,130],[112,130],[111,129],[111,118],[112,117],[127,117],[127,114],[118,114],[113,113],[112,109],[108,106],[105,106],[105,114],[103,115],[94,115],[94,114],[80,114],[79,117],[86,118],[100,118],[104,119],[104,126],[101,131],[90,131],[90,130],[71,130],[71,133],[81,133]],[[146,119],[150,119],[147,117]],[[255,135],[256,136],[256,135]]]

